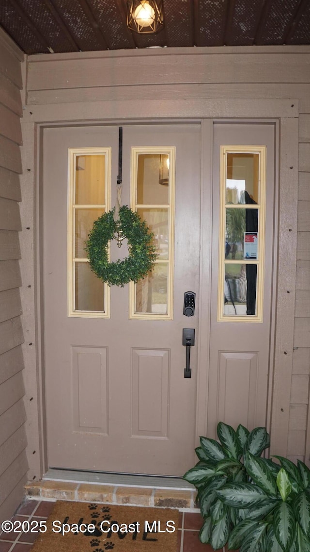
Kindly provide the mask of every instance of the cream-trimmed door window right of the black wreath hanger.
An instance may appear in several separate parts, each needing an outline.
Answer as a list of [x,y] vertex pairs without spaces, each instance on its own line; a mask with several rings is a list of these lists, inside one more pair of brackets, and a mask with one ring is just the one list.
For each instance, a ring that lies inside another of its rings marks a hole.
[[172,320],[175,147],[132,147],[131,208],[153,233],[157,259],[130,283],[130,318]]

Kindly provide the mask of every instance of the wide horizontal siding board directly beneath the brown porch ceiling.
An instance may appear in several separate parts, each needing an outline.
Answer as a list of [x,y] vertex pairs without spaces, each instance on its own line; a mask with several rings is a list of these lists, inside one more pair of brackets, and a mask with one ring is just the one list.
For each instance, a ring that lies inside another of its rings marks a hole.
[[[206,59],[207,58],[207,59]],[[31,57],[33,59],[33,56]],[[287,63],[288,61],[288,63]],[[68,65],[70,63],[70,71]],[[309,61],[307,62],[309,63]],[[152,67],[152,71],[150,71]],[[255,71],[253,71],[255,67]],[[281,67],[281,71],[279,71]],[[117,73],[122,71],[122,81]],[[116,76],[116,78],[115,78]],[[111,57],[81,56],[78,60],[51,60],[50,63],[31,63],[28,90],[84,88],[138,84],[190,83],[310,83],[310,70],[302,56],[287,54],[183,54],[176,56],[162,51],[161,55]]]

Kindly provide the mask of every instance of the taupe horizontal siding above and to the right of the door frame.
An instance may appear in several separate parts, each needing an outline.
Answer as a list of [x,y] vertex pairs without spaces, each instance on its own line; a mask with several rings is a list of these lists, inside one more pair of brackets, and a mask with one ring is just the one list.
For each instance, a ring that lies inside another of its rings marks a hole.
[[[158,106],[160,98],[161,112],[157,110],[156,113],[163,118],[173,116],[175,100],[184,102],[184,117],[189,118],[197,113],[197,105],[200,113],[208,116],[210,102],[213,114],[217,113],[218,117],[232,116],[229,112],[231,99],[244,105],[243,116],[250,117],[251,108],[246,99],[254,99],[255,105],[258,100],[297,100],[300,158],[296,312],[294,349],[285,352],[290,357],[293,355],[293,370],[290,404],[284,401],[283,405],[285,410],[290,408],[290,420],[287,443],[282,448],[290,458],[306,457],[309,464],[310,47],[40,55],[30,56],[27,65],[24,128],[29,133],[33,132],[31,124],[35,121],[111,119],[115,102],[121,118],[138,119],[139,114],[132,107],[133,100],[137,99],[141,100],[141,105],[147,102],[150,116],[154,116],[152,100],[156,100]],[[147,109],[142,109],[142,113],[147,113]],[[271,109],[269,116],[277,114]],[[293,292],[295,294],[295,290]],[[285,321],[278,323],[285,324]]]

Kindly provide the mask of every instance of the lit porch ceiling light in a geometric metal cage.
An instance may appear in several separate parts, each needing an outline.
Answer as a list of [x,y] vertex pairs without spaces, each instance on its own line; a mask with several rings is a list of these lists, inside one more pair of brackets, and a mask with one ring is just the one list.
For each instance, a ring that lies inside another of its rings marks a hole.
[[127,26],[139,34],[158,33],[163,28],[163,0],[128,0]]

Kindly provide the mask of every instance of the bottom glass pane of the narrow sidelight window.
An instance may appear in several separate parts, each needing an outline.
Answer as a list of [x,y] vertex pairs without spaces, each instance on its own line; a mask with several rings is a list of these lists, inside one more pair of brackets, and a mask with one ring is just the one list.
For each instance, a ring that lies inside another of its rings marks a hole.
[[256,264],[225,264],[224,315],[256,315]]

